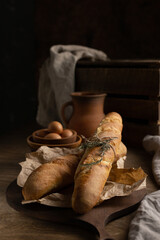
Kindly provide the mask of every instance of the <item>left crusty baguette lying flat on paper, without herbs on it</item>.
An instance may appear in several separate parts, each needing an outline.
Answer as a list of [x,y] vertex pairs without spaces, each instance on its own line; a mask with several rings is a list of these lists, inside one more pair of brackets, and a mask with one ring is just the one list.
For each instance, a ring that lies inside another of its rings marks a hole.
[[79,159],[77,155],[65,155],[35,169],[22,189],[24,199],[39,199],[72,183]]

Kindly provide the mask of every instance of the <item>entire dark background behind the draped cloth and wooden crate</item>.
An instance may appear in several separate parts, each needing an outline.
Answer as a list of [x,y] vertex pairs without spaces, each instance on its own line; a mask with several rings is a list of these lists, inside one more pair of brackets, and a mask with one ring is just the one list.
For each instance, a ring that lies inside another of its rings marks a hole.
[[2,0],[0,131],[35,121],[39,68],[55,44],[160,59],[159,0]]

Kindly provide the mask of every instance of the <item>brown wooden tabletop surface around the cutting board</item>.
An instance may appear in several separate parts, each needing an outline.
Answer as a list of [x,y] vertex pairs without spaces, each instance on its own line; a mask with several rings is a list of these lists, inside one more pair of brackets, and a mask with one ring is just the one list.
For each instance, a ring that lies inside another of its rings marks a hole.
[[[32,133],[32,127],[21,127],[0,136],[0,238],[1,240],[28,240],[28,239],[56,239],[56,240],[98,240],[95,232],[79,226],[58,224],[28,217],[11,208],[6,201],[6,189],[16,179],[20,166],[19,162],[25,160],[25,153],[30,152],[26,137]],[[151,159],[143,148],[129,148],[126,167],[139,167],[148,174],[147,192],[157,190],[151,172]],[[106,226],[107,232],[115,240],[127,239],[131,214],[110,222]]]

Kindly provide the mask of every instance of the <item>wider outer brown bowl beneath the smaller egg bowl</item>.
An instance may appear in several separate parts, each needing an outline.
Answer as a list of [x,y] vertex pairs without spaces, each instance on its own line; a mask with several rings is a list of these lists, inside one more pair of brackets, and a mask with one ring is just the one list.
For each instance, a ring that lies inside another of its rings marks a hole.
[[29,147],[31,148],[32,151],[37,150],[41,146],[47,146],[47,147],[66,147],[66,148],[76,148],[79,147],[82,142],[82,138],[77,135],[76,141],[73,143],[61,143],[61,144],[42,144],[42,143],[37,143],[34,142],[32,135],[27,137],[27,143]]

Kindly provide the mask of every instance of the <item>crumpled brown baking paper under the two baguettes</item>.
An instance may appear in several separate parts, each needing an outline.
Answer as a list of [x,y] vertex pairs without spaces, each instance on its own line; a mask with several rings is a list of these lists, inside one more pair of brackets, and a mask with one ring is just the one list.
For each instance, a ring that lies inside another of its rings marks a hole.
[[[82,154],[82,151],[83,150],[79,148],[49,148],[47,146],[41,146],[36,152],[27,153],[26,160],[19,163],[21,165],[21,171],[17,177],[17,184],[20,187],[23,187],[31,172],[41,164],[53,161],[54,158],[56,159],[57,157],[66,154]],[[120,158],[116,164],[113,165],[99,202],[115,196],[126,196],[133,191],[146,187],[147,175],[141,168],[125,169],[125,160],[126,156]],[[38,202],[48,206],[70,208],[72,192],[73,186],[69,186],[62,191],[49,194],[38,200],[23,200],[22,204]]]

